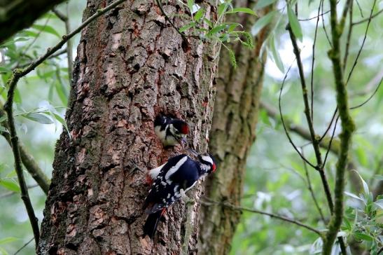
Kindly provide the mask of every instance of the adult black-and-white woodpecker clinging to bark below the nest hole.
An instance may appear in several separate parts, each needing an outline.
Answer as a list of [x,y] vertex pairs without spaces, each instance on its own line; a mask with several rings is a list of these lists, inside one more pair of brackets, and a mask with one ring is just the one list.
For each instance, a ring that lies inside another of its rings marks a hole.
[[186,154],[169,158],[167,163],[149,171],[153,184],[144,202],[143,209],[149,214],[144,225],[144,236],[153,238],[158,221],[167,207],[185,196],[197,181],[216,171],[216,163],[209,154],[193,160]]

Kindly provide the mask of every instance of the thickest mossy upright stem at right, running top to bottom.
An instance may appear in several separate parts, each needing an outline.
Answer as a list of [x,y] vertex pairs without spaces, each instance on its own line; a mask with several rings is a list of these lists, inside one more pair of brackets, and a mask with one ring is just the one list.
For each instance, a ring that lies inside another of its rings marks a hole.
[[[354,123],[349,115],[349,106],[347,102],[347,90],[346,83],[344,83],[344,77],[342,72],[342,63],[340,61],[340,36],[342,35],[342,28],[339,27],[337,22],[337,10],[336,1],[330,0],[330,25],[331,34],[333,39],[333,47],[328,53],[328,57],[333,62],[333,73],[335,79],[335,89],[337,92],[337,108],[339,109],[339,116],[342,120],[342,133],[340,135],[340,153],[336,166],[336,178],[335,178],[335,204],[333,215],[331,216],[330,223],[328,224],[328,232],[323,239],[322,254],[330,254],[333,247],[334,240],[342,224],[343,217],[343,198],[344,198],[344,172],[347,166],[347,156],[349,147],[351,144],[351,136],[354,131]],[[346,7],[345,7],[346,8]],[[347,12],[346,12],[347,13]],[[344,15],[341,20],[344,20]],[[340,241],[343,242],[342,237]],[[341,249],[345,250],[344,246]]]

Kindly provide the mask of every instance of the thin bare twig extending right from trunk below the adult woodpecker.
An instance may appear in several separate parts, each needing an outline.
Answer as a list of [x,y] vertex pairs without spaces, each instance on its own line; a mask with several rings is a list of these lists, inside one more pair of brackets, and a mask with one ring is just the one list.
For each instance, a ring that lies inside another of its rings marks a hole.
[[312,228],[311,226],[308,226],[305,223],[302,223],[300,221],[296,221],[295,219],[287,218],[285,216],[281,216],[279,214],[272,214],[272,213],[263,212],[263,211],[260,211],[260,210],[257,210],[257,209],[251,209],[251,208],[246,208],[246,207],[239,207],[237,205],[232,205],[232,204],[227,203],[227,202],[217,202],[217,201],[214,201],[214,200],[201,201],[201,204],[202,205],[207,205],[207,206],[209,206],[209,205],[221,205],[223,207],[228,207],[230,209],[234,209],[234,210],[237,210],[237,211],[253,212],[253,213],[256,213],[256,214],[267,215],[267,216],[270,216],[270,217],[275,218],[275,219],[280,219],[281,221],[286,221],[286,222],[289,222],[289,223],[293,223],[293,224],[295,224],[297,226],[306,228],[307,230],[310,230],[310,231],[316,233],[319,236],[322,236],[321,231],[319,231],[319,230],[317,230],[315,228]]

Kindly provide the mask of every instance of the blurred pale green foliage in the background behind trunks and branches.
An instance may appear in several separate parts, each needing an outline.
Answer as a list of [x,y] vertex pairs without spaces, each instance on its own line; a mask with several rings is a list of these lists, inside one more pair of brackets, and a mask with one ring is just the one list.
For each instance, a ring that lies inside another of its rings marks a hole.
[[[285,30],[288,22],[286,2],[258,1],[256,8],[264,8],[272,2],[276,2],[275,11],[260,18],[254,24],[251,32],[256,34],[265,25],[272,25],[272,33],[263,46],[263,50],[268,53],[268,59],[262,101],[277,109],[281,81],[288,67],[294,63],[295,57],[288,32]],[[315,17],[319,5],[319,1],[310,2],[310,4],[300,3],[298,8],[298,18],[302,20],[300,21],[302,31],[300,48],[306,77],[311,74],[310,64],[316,19],[304,19]],[[342,1],[341,4],[343,4]],[[354,21],[368,18],[372,1],[359,1],[358,5],[354,2]],[[71,27],[74,28],[81,24],[81,12],[84,6],[85,2],[69,1],[68,6],[62,4],[57,9],[62,13],[67,13],[67,8],[69,9]],[[328,10],[328,3],[326,2],[323,7]],[[374,13],[382,8],[382,1],[377,1]],[[329,15],[325,14],[323,18],[324,25],[329,31]],[[370,24],[363,51],[347,86],[351,106],[358,105],[370,97],[382,79],[382,24],[383,15],[377,15]],[[361,25],[354,26],[346,74],[361,47],[366,25],[367,22],[363,22]],[[64,23],[50,12],[37,20],[33,27],[18,33],[1,46],[1,104],[5,102],[4,86],[11,74],[10,70],[15,67],[23,67],[34,57],[45,53],[46,48],[53,46],[65,33]],[[346,40],[344,37],[343,43]],[[78,40],[79,35],[72,40],[74,52],[76,52]],[[326,54],[328,49],[328,41],[320,24],[316,39],[314,65],[314,127],[319,133],[326,130],[335,109],[332,69]],[[63,54],[44,62],[26,78],[23,78],[15,98],[17,103],[15,113],[18,115],[16,121],[20,139],[48,176],[52,172],[55,141],[62,132],[60,116],[64,116],[68,93],[67,59]],[[298,71],[293,64],[281,97],[282,109],[286,119],[295,125],[306,127],[303,104],[300,99],[301,93]],[[382,224],[382,217],[378,218],[382,211],[378,212],[379,205],[373,204],[373,198],[370,198],[370,192],[379,184],[382,185],[382,181],[379,182],[383,172],[382,99],[383,90],[381,88],[367,104],[351,111],[357,129],[353,138],[350,159],[354,162],[357,172],[365,180],[368,190],[365,187],[357,189],[358,186],[363,187],[360,179],[359,183],[355,183],[351,179],[347,182],[347,192],[355,195],[347,196],[349,209],[347,209],[347,220],[344,221],[342,230],[345,235],[348,235],[348,238],[357,242],[364,241],[363,245],[368,247],[372,247],[374,243],[382,247],[382,237],[379,237],[379,228],[376,223],[378,221]],[[339,128],[338,126],[335,130],[335,137],[340,132]],[[293,132],[291,135],[295,144],[302,146],[305,156],[314,162],[311,146],[306,146],[307,140]],[[33,235],[25,207],[18,195],[12,152],[5,139],[2,138],[0,139],[0,151],[0,200],[2,205],[0,210],[0,254],[13,254],[31,240]],[[331,188],[333,188],[335,177],[336,160],[336,156],[330,153],[326,173]],[[308,172],[314,194],[323,214],[328,218],[329,212],[319,174],[310,168]],[[35,186],[34,180],[27,172],[25,172],[25,176],[27,184]],[[39,187],[30,188],[29,192],[39,222],[41,222],[46,195]],[[247,163],[242,205],[298,219],[318,229],[325,228],[307,188],[307,177],[302,160],[288,143],[279,116],[273,118],[265,110],[260,113],[257,141],[253,145]],[[354,222],[356,212],[360,217],[357,222]],[[350,233],[353,234],[349,235]],[[314,233],[290,223],[244,212],[232,243],[232,254],[314,253],[317,237]],[[22,249],[20,254],[32,254],[33,252],[34,243],[32,242]]]

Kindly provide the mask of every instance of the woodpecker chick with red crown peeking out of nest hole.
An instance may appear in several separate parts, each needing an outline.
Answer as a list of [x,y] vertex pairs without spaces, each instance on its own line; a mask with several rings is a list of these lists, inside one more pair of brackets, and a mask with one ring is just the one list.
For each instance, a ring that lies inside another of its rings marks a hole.
[[189,133],[189,126],[179,118],[158,115],[154,120],[155,135],[165,147],[183,144]]

